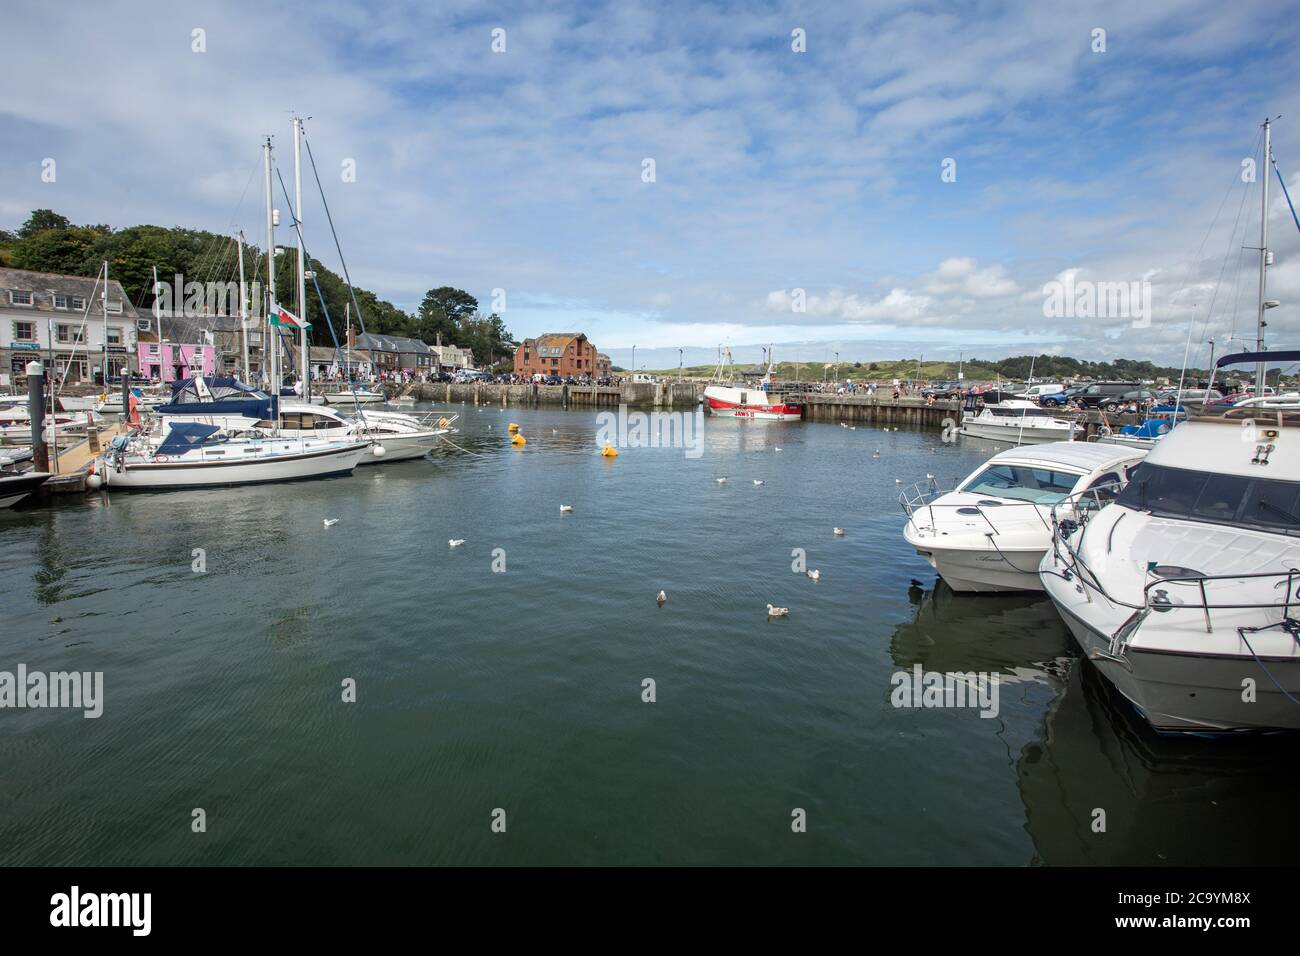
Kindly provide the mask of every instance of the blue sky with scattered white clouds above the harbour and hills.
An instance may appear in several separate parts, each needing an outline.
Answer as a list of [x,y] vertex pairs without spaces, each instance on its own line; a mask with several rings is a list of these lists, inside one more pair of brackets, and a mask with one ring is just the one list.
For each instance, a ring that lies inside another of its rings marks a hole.
[[[1253,329],[1240,161],[1265,116],[1300,181],[1277,3],[17,3],[5,21],[0,225],[52,207],[260,235],[259,144],[276,134],[287,174],[298,111],[360,285],[407,308],[504,289],[516,336],[581,329],[623,364],[768,342],[1178,363],[1188,323],[1193,343]],[[309,190],[304,219],[337,268]],[[1270,229],[1270,333],[1294,346],[1300,235],[1277,189]],[[1150,282],[1150,324],[1045,317],[1067,271]]]

